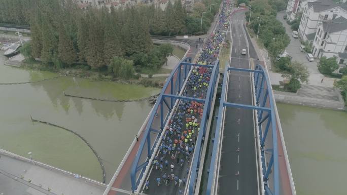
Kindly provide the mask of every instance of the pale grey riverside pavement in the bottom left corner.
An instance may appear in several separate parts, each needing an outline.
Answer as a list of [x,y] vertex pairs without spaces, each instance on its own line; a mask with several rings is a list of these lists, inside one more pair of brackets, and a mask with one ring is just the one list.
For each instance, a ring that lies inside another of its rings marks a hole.
[[48,170],[7,155],[1,155],[0,158],[0,194],[84,195],[102,194],[105,189],[104,185],[88,183],[71,175]]

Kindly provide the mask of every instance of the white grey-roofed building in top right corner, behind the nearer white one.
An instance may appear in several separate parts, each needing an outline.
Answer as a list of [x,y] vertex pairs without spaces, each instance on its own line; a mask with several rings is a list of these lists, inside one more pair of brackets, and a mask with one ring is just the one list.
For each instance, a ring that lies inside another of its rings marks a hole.
[[331,0],[307,2],[300,21],[299,37],[303,41],[313,41],[320,23],[339,16],[347,18],[347,4],[335,4]]

